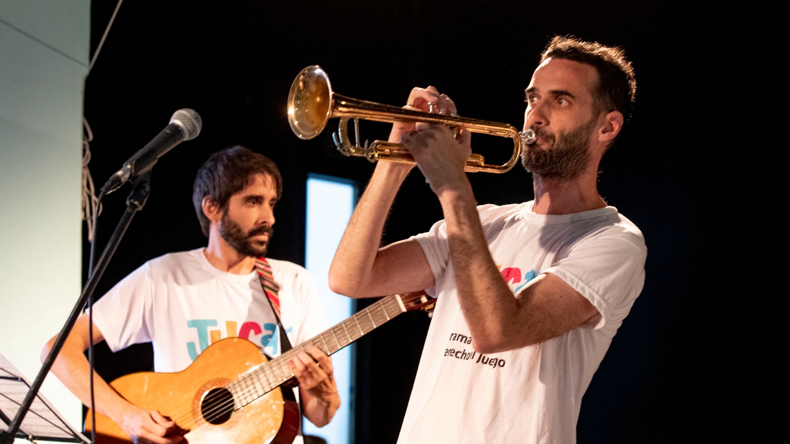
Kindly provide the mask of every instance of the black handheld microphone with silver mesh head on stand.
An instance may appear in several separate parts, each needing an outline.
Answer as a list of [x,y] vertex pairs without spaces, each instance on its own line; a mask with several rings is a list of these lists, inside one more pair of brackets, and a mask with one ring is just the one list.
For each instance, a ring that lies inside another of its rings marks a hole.
[[198,137],[202,126],[203,120],[196,111],[190,108],[175,111],[164,130],[161,130],[160,134],[156,134],[156,137],[149,141],[148,145],[135,152],[134,156],[124,162],[120,170],[110,176],[107,183],[102,186],[101,194],[110,194],[118,190],[124,183],[151,171],[156,161],[173,149],[175,145]]

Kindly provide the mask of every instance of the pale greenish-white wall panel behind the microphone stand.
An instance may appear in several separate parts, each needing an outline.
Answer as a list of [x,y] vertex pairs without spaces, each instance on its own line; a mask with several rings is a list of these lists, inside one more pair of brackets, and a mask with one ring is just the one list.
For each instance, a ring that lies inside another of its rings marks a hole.
[[[89,44],[90,2],[0,2],[0,353],[30,382],[81,292]],[[81,430],[80,404],[55,377],[40,393]]]

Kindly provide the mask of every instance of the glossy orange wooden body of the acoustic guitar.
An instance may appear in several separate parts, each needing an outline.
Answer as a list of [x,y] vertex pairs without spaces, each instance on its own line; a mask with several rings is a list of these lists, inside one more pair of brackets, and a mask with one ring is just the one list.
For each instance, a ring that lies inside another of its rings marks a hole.
[[[156,410],[189,430],[184,435],[189,444],[291,444],[299,431],[301,412],[288,386],[277,387],[235,411],[228,409],[228,414],[220,417],[211,413],[208,401],[204,405],[213,389],[221,392],[229,382],[267,362],[250,341],[230,337],[206,348],[184,371],[126,374],[110,385],[137,407]],[[92,430],[91,415],[88,411],[87,433]],[[121,427],[96,413],[96,444],[130,442]]]

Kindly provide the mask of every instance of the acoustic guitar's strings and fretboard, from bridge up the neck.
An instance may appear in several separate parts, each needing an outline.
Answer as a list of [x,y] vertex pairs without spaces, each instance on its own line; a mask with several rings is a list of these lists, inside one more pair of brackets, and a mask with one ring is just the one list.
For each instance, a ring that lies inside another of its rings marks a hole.
[[[371,315],[371,310],[380,307],[383,309],[383,313],[377,314],[377,317],[374,318]],[[397,309],[392,310],[392,314],[389,314],[389,310],[387,309]],[[389,319],[397,316],[397,314],[401,314],[403,310],[394,297],[379,299],[376,303],[371,304],[370,307],[359,311],[358,313],[352,315],[351,318],[348,318],[347,321],[354,320],[357,324],[357,327],[360,329],[360,333],[366,334],[370,333],[372,329],[377,328],[379,325],[382,325],[384,322],[389,321]],[[367,316],[366,316],[367,315]],[[365,319],[367,317],[367,320]],[[360,322],[362,321],[362,322]],[[377,322],[378,321],[378,322]],[[194,417],[192,412],[186,412],[179,416],[179,418],[175,419],[175,422],[184,430],[199,430],[202,427],[209,426],[213,420],[219,419],[222,416],[226,415],[228,412],[234,412],[239,410],[239,408],[243,408],[246,404],[250,404],[251,402],[255,401],[259,397],[264,396],[266,393],[269,393],[273,389],[276,389],[278,386],[281,386],[284,382],[287,382],[289,379],[293,378],[293,373],[288,369],[287,372],[284,371],[285,368],[288,368],[287,365],[284,365],[284,362],[287,362],[288,359],[294,357],[297,353],[303,351],[303,349],[307,346],[307,344],[314,344],[317,347],[319,346],[319,340],[323,343],[322,351],[328,353],[329,348],[326,345],[326,338],[330,337],[334,339],[335,344],[337,344],[337,348],[335,351],[340,350],[340,348],[345,347],[348,344],[351,344],[354,340],[352,340],[351,335],[348,333],[348,329],[345,328],[345,324],[348,322],[341,322],[338,325],[335,325],[333,328],[325,331],[324,333],[319,334],[313,340],[304,342],[299,344],[295,348],[292,348],[288,352],[284,352],[282,355],[278,356],[277,358],[269,361],[269,363],[261,363],[260,367],[255,368],[254,370],[248,371],[246,374],[243,374],[241,377],[236,379],[235,381],[231,381],[228,383],[227,386],[224,387],[215,387],[216,389],[228,389],[228,392],[231,393],[231,398],[228,399],[227,396],[223,396],[219,393],[213,393],[206,397],[204,402],[201,402],[200,412],[198,412],[198,416]],[[344,345],[340,346],[340,341],[338,341],[338,336],[336,330],[339,330],[340,327],[344,330],[345,336],[348,337],[348,341],[345,342]],[[365,331],[367,329],[367,331]],[[361,335],[360,335],[361,337]],[[319,347],[321,348],[321,347]],[[328,353],[330,354],[330,353]],[[276,365],[279,364],[279,365]],[[274,369],[270,367],[275,367]],[[277,374],[273,374],[277,373]],[[280,375],[280,378],[277,378],[277,375]],[[265,378],[261,378],[264,376]],[[286,377],[287,376],[287,377]],[[256,389],[254,386],[254,382],[260,382],[261,379],[265,379],[267,383],[265,386],[269,387],[269,389],[261,390]],[[252,381],[252,383],[249,383]],[[276,383],[276,381],[280,381]],[[238,391],[234,389],[240,386]],[[250,395],[253,395],[250,397]],[[247,397],[250,397],[249,401],[246,400]],[[239,402],[239,407],[235,408],[236,401],[241,400]],[[201,413],[201,414],[200,414]],[[203,421],[200,420],[203,418]],[[200,426],[197,426],[198,423],[201,423]],[[197,427],[196,427],[197,426]]]

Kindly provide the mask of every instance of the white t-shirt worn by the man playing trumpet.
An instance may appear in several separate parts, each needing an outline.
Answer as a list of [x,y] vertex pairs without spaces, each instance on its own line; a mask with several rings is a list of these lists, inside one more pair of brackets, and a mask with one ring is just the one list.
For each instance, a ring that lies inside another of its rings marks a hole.
[[541,344],[481,355],[472,348],[444,221],[416,235],[438,297],[400,444],[576,442],[581,397],[645,281],[641,231],[614,207],[532,213],[532,201],[478,208],[491,256],[513,293],[540,273],[561,277],[600,316]]

